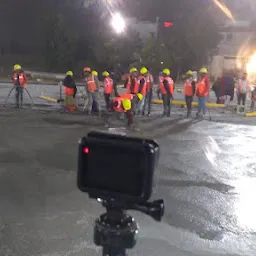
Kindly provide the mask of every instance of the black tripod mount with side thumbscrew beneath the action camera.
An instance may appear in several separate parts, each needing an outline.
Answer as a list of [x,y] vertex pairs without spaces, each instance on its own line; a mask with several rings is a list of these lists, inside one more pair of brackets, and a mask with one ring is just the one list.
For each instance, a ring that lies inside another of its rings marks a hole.
[[103,247],[103,256],[127,256],[126,249],[135,246],[138,224],[125,210],[137,210],[161,221],[164,215],[164,201],[139,204],[120,204],[115,201],[102,201],[107,212],[102,214],[94,226],[94,243]]

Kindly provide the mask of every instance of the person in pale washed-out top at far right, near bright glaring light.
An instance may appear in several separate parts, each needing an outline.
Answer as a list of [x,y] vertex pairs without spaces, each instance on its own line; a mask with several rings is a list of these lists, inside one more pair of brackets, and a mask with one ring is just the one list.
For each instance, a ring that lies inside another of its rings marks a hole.
[[[246,96],[247,93],[250,90],[250,86],[249,86],[249,81],[247,79],[247,73],[244,72],[242,77],[238,80],[238,84],[237,84],[237,113],[241,112],[241,109],[243,110],[242,112],[245,112],[245,102],[246,102]],[[241,107],[241,101],[242,101],[242,105],[243,107]]]

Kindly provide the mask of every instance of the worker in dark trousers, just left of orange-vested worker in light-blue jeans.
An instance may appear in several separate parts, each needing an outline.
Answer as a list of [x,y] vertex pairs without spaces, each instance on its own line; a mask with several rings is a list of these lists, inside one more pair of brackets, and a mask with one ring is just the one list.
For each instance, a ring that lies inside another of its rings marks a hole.
[[184,95],[185,95],[185,101],[186,101],[186,106],[187,106],[187,117],[191,116],[191,110],[192,110],[192,101],[193,101],[193,96],[196,91],[196,83],[193,79],[193,71],[189,70],[186,73],[186,81],[184,84]]

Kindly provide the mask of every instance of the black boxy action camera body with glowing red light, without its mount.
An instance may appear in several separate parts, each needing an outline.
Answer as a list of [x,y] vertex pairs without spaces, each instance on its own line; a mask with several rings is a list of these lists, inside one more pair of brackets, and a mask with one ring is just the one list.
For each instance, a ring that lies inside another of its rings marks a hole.
[[146,202],[159,151],[154,140],[90,132],[79,141],[77,186],[95,199]]

